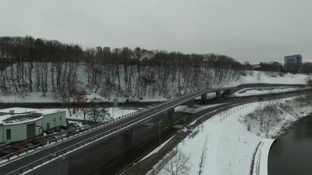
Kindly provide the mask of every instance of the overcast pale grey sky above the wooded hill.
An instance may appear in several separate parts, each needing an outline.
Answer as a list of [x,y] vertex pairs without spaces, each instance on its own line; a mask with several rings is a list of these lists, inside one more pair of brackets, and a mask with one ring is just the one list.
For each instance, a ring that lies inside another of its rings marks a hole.
[[0,0],[0,36],[312,61],[310,0]]

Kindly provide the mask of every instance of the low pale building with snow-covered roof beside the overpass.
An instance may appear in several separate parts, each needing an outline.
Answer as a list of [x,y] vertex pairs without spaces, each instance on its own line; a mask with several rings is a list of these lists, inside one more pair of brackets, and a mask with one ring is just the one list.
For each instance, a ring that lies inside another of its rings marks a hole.
[[19,107],[0,110],[0,143],[31,139],[63,124],[66,124],[66,110]]

